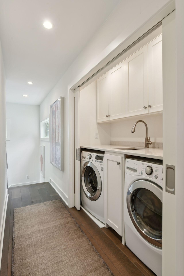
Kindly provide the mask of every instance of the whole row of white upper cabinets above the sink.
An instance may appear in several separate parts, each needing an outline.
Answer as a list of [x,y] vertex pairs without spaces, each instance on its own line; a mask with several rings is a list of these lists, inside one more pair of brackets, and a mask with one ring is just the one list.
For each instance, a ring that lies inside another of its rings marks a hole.
[[97,122],[162,109],[161,34],[97,80]]

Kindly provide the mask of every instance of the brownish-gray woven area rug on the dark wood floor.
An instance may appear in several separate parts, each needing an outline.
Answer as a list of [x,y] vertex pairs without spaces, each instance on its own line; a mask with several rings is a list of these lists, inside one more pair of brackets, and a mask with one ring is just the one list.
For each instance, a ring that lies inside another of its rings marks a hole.
[[12,276],[113,275],[60,200],[14,209]]

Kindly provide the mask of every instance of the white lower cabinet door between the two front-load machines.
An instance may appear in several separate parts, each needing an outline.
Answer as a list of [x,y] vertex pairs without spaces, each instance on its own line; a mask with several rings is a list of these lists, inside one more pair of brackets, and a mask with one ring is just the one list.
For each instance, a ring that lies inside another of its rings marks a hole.
[[105,154],[104,180],[105,222],[122,236],[123,158],[121,156]]

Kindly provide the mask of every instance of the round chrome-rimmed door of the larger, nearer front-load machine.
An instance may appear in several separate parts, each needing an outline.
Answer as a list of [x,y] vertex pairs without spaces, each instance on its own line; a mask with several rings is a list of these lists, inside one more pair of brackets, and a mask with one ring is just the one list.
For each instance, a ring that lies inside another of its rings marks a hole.
[[127,208],[133,225],[144,239],[162,247],[162,188],[147,180],[129,187]]

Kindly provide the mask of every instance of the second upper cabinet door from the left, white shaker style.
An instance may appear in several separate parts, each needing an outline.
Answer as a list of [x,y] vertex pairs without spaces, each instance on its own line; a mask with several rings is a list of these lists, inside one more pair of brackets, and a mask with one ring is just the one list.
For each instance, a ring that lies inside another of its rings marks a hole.
[[124,101],[125,101],[125,62],[121,62],[109,71],[110,76],[110,102],[109,102],[109,119],[124,118]]

